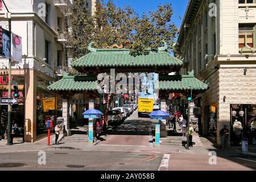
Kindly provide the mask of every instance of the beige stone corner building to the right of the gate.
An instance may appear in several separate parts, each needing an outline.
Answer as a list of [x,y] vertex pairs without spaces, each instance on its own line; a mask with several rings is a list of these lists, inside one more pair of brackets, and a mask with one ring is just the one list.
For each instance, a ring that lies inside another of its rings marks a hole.
[[201,107],[200,134],[218,146],[224,125],[228,144],[239,144],[242,137],[255,142],[255,26],[255,0],[190,0],[180,28],[181,73],[193,69],[210,86],[194,100]]

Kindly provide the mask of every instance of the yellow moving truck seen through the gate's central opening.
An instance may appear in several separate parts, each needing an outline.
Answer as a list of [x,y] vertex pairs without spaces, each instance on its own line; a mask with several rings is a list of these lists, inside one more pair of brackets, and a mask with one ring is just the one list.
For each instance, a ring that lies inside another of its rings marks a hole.
[[138,117],[152,113],[154,105],[153,98],[140,98],[138,101]]

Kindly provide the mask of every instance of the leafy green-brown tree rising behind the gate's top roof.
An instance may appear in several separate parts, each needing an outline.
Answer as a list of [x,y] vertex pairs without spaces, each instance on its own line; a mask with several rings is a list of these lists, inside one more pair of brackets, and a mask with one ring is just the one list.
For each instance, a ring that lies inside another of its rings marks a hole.
[[159,5],[156,11],[138,15],[131,7],[114,5],[113,0],[96,3],[96,12],[90,15],[83,0],[75,0],[71,19],[73,35],[71,42],[76,57],[88,53],[87,46],[94,40],[96,48],[122,44],[130,48],[131,55],[148,53],[156,49],[165,40],[169,51],[173,49],[177,28],[171,22],[172,7],[170,3]]

